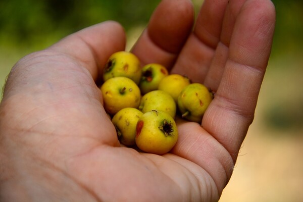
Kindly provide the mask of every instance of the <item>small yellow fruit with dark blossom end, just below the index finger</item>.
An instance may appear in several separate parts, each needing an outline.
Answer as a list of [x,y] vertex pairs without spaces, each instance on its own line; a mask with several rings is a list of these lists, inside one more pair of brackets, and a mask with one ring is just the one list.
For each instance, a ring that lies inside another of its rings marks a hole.
[[157,90],[160,81],[168,75],[167,69],[160,64],[151,63],[142,67],[139,88],[142,94]]

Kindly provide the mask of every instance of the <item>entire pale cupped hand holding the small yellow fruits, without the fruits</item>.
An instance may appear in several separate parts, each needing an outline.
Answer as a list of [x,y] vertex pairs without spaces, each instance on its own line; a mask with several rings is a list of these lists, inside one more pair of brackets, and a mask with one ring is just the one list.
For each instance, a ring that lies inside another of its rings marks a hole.
[[[125,33],[104,22],[21,59],[0,105],[1,201],[218,201],[254,119],[275,25],[269,0],[163,0],[132,52],[216,91],[171,153],[119,144],[95,83]],[[169,26],[168,26],[169,25]]]

